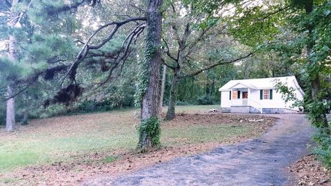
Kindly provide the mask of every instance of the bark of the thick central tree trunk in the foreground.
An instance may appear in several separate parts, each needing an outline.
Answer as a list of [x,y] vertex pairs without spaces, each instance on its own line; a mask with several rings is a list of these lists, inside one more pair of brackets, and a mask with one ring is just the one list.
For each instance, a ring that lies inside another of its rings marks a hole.
[[[148,87],[143,95],[141,106],[141,124],[147,122],[151,118],[158,116],[158,94],[159,94],[159,66],[161,63],[161,27],[162,15],[161,6],[162,0],[149,0],[146,10],[147,17],[147,36],[146,36],[146,61],[148,63]],[[152,138],[148,132],[143,131],[139,136],[139,147],[146,149],[152,147]]]

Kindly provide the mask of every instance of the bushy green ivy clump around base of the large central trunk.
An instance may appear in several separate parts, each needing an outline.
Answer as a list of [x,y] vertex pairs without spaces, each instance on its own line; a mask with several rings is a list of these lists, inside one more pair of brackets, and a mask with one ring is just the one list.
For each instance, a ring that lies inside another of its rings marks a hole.
[[159,147],[161,145],[161,127],[157,116],[148,118],[146,121],[141,121],[139,125],[139,146],[143,143],[144,138],[150,139],[152,147]]

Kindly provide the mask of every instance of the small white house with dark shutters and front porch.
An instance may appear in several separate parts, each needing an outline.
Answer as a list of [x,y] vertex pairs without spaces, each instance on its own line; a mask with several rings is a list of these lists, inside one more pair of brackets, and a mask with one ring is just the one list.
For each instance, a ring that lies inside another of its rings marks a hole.
[[288,85],[288,87],[294,87],[294,95],[300,101],[303,100],[304,93],[295,76],[232,80],[219,89],[222,112],[298,112],[299,107],[292,107],[292,101],[285,103],[282,94],[275,90],[274,85],[277,81],[280,81],[283,85]]

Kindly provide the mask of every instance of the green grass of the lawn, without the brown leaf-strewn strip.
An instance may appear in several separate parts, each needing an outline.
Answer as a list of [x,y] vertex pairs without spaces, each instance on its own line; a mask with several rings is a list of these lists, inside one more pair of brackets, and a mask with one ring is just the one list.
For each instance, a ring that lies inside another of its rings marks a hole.
[[[177,112],[197,112],[218,105],[179,106]],[[31,121],[18,132],[0,134],[0,173],[15,167],[66,161],[98,151],[134,149],[137,144],[134,110],[62,116]],[[163,125],[163,145],[219,141],[251,132],[252,127],[229,125]]]

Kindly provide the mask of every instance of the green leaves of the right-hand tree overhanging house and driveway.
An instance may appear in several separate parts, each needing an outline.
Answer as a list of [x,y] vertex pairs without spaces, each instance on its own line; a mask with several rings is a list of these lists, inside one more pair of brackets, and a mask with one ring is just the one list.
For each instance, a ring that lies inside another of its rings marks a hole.
[[[325,127],[325,106],[321,99],[330,94],[330,82],[323,81],[330,78],[331,72],[330,10],[328,0],[272,1],[249,8],[238,3],[235,16],[228,18],[235,39],[254,47],[257,52],[277,54],[280,61],[286,62],[284,66],[295,64],[299,68],[308,118],[313,126],[321,129],[318,134],[323,136],[317,148],[319,154],[329,160],[330,134]],[[268,71],[260,74],[270,76]],[[277,89],[284,94],[285,101],[296,101],[294,89],[281,84]],[[318,92],[314,98],[312,90]]]

